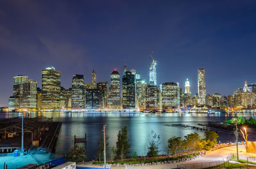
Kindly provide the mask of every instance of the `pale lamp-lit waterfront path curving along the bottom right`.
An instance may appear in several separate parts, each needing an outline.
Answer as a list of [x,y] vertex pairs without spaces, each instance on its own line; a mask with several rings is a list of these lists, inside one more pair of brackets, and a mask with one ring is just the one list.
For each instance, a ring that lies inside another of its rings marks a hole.
[[[207,163],[212,163],[215,161],[227,161],[227,156],[230,156],[230,154],[234,154],[236,156],[236,146],[231,146],[231,147],[224,147],[221,149],[216,149],[214,151],[206,151],[206,155],[202,156],[197,159],[193,159],[191,161],[186,161],[186,162],[181,162],[181,163],[170,163],[170,164],[165,164],[165,165],[147,165],[147,166],[128,166],[128,168],[136,168],[136,169],[163,169],[163,168],[177,168],[178,165],[192,165],[195,164],[195,168],[202,168],[201,164],[198,165],[198,163],[204,163],[205,166],[207,166]],[[244,146],[239,145],[239,158],[240,159],[247,159],[250,157],[255,157],[256,154],[252,153],[247,153]],[[97,165],[92,165],[92,164],[80,164],[77,166],[97,166]],[[102,165],[100,165],[102,167]],[[125,166],[111,166],[113,169],[124,169]],[[205,167],[203,167],[205,168]]]

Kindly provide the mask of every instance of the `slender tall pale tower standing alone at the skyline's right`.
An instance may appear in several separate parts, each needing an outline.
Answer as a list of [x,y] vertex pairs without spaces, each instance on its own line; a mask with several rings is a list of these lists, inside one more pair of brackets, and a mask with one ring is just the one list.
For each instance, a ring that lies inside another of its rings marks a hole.
[[205,69],[198,68],[198,103],[200,105],[205,105]]

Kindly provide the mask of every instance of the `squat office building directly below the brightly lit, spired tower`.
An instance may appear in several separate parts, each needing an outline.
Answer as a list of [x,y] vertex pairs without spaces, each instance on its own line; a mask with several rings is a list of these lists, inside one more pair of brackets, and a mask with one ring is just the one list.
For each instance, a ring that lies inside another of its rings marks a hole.
[[161,91],[157,85],[148,85],[146,87],[146,104],[145,108],[147,109],[161,109],[162,100],[161,100]]

